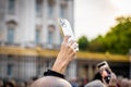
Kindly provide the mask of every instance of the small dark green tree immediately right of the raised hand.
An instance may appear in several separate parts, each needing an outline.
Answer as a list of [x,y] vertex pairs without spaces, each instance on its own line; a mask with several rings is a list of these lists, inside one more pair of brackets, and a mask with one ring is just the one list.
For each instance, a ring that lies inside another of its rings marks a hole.
[[78,42],[79,42],[80,50],[83,50],[83,51],[87,50],[88,40],[87,40],[86,36],[80,37]]

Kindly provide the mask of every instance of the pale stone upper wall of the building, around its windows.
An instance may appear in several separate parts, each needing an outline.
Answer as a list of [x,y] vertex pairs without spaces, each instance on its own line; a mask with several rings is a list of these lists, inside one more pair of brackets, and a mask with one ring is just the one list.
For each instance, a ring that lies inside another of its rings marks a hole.
[[[13,1],[13,0],[12,0]],[[38,4],[37,4],[38,2]],[[36,29],[39,29],[39,42],[45,47],[61,44],[61,35],[57,24],[58,17],[68,18],[73,27],[73,0],[14,0],[14,9],[9,9],[10,0],[1,0],[0,14],[3,16],[1,23],[0,41],[8,41],[8,27],[14,28],[14,44],[20,46],[34,45]],[[52,8],[49,8],[49,4]],[[36,10],[39,7],[38,10]],[[62,8],[61,8],[62,7]],[[52,12],[50,16],[49,13]],[[52,29],[52,41],[49,46],[49,27]]]

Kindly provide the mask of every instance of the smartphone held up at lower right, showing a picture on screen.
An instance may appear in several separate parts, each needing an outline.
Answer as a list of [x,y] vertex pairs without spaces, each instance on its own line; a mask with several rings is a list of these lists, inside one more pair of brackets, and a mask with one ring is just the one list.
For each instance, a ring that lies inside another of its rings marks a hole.
[[111,70],[110,70],[108,63],[106,61],[103,61],[103,62],[97,64],[97,69],[99,70],[100,73],[103,71],[106,71],[107,76],[104,77],[104,80],[106,84],[109,84],[109,82],[111,79]]

